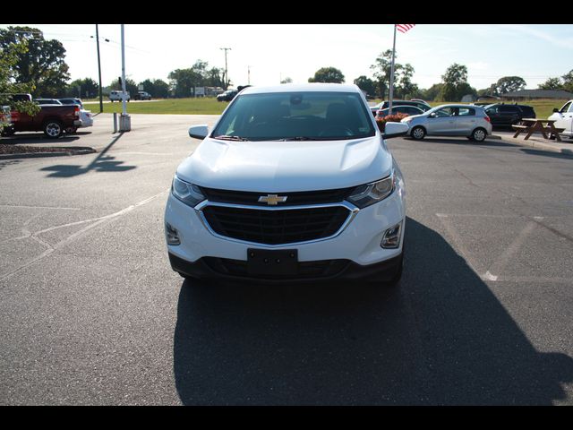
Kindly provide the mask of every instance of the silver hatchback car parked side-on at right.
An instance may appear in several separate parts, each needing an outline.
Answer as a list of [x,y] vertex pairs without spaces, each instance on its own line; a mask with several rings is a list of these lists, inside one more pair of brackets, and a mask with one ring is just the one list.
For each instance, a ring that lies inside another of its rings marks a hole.
[[402,123],[415,140],[425,136],[466,136],[476,142],[492,134],[492,122],[483,107],[474,105],[440,105],[422,115],[408,116]]

